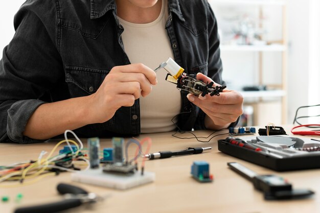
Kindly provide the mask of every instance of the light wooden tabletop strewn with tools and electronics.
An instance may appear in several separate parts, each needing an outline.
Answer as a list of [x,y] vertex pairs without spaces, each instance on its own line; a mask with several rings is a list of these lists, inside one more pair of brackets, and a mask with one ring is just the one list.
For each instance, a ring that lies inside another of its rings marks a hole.
[[[207,137],[212,132],[193,133]],[[210,142],[198,142],[194,138],[178,139],[172,134],[173,132],[147,134],[141,135],[138,139],[147,136],[152,139],[150,152],[184,150],[187,147],[199,146],[212,146],[212,150],[198,155],[148,160],[145,171],[154,172],[155,181],[127,190],[73,182],[69,172],[48,176],[26,186],[3,188],[3,184],[0,184],[0,197],[10,198],[8,202],[0,203],[0,211],[13,212],[16,207],[58,201],[62,198],[56,191],[56,185],[64,182],[101,196],[109,195],[103,202],[78,207],[77,210],[80,212],[320,212],[320,169],[279,173],[219,152],[217,140],[227,135],[214,137]],[[193,137],[189,133],[179,136]],[[86,144],[86,139],[82,141]],[[49,152],[56,143],[57,140],[38,144],[0,144],[0,165],[36,160],[42,150]],[[100,147],[111,147],[111,139],[100,139]],[[133,148],[135,147],[132,145],[129,150],[132,153]],[[210,173],[214,175],[213,182],[199,183],[191,177],[191,165],[193,161],[198,160],[210,164]],[[292,183],[294,188],[308,188],[315,191],[315,195],[302,200],[266,201],[250,181],[228,168],[227,162],[239,162],[261,175],[282,176]],[[24,196],[19,203],[14,201],[18,193]],[[70,212],[74,210],[76,209]]]

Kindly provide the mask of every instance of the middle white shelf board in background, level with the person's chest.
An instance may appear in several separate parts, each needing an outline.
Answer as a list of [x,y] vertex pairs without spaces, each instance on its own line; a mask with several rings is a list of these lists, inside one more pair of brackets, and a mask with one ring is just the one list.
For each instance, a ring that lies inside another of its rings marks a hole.
[[221,51],[283,52],[284,45],[220,45]]

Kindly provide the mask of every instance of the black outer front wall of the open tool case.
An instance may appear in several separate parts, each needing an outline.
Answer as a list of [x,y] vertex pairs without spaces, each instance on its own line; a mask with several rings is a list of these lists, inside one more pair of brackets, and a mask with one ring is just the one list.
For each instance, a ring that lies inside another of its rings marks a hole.
[[278,172],[320,168],[320,155],[275,158],[244,148],[224,140],[218,140],[218,150],[222,153],[246,160]]

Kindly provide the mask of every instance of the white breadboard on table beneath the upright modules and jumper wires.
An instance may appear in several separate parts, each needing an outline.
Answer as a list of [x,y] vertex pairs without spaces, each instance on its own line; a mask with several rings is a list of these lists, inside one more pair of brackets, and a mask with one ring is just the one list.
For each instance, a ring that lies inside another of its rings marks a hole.
[[89,169],[87,171],[73,173],[71,175],[73,181],[88,183],[103,187],[128,189],[142,184],[153,182],[155,174],[152,172],[144,172],[141,175],[140,171],[134,175],[125,176],[102,172],[102,168]]

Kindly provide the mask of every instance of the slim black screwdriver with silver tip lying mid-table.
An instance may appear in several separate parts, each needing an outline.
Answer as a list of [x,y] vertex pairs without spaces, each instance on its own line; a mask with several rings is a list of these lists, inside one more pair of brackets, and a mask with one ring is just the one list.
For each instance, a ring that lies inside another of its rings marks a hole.
[[145,155],[145,158],[149,158],[150,160],[156,159],[156,158],[170,158],[172,156],[176,155],[191,155],[191,154],[199,154],[202,153],[205,150],[211,150],[211,147],[189,147],[187,150],[179,150],[179,151],[162,151],[157,153],[150,153]]

